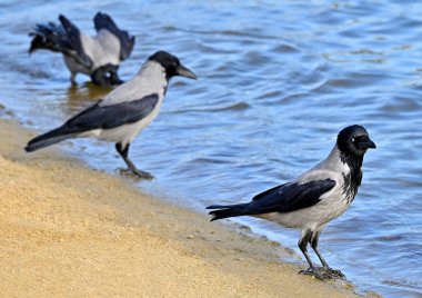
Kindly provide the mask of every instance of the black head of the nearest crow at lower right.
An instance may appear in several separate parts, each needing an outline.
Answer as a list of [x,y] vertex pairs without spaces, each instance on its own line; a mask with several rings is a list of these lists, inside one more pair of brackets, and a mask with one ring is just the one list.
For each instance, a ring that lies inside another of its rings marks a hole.
[[362,126],[350,126],[339,132],[336,145],[341,152],[362,157],[369,148],[376,148]]

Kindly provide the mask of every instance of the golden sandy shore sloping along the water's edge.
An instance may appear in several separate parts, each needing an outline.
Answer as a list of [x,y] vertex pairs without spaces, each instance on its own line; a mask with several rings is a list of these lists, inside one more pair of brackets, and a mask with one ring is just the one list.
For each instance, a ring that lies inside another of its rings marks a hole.
[[0,120],[0,297],[348,297],[280,246],[142,195]]

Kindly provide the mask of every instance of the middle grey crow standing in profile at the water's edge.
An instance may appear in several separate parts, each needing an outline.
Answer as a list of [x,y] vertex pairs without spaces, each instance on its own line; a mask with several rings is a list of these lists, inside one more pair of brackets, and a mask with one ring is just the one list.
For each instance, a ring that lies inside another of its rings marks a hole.
[[26,150],[31,152],[70,138],[94,137],[114,142],[129,170],[150,179],[150,173],[137,169],[129,159],[129,146],[159,113],[169,80],[174,76],[197,79],[177,57],[164,51],[155,52],[132,80],[61,127],[32,139]]

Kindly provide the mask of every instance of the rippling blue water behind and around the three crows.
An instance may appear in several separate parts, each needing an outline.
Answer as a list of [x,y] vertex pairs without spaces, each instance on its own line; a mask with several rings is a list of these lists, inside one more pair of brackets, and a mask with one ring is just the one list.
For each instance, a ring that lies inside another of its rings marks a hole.
[[[27,53],[34,23],[64,13],[93,33],[99,10],[137,36],[124,79],[159,49],[200,77],[173,79],[160,116],[133,143],[132,159],[158,178],[142,189],[201,211],[247,201],[323,159],[344,126],[364,125],[378,149],[365,156],[359,196],[320,246],[360,290],[422,296],[420,4],[1,1],[0,103],[27,127],[51,129],[108,92],[84,77],[71,88],[58,54]],[[98,169],[123,166],[112,145],[61,148]],[[297,249],[298,231],[239,221]]]

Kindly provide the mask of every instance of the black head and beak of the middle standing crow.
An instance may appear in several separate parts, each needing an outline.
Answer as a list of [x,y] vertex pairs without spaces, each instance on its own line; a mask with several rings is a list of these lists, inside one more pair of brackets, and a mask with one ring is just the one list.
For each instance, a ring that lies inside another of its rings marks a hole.
[[165,77],[168,80],[174,76],[197,79],[197,76],[190,69],[180,63],[178,57],[169,52],[158,51],[148,60],[159,62],[165,69]]

